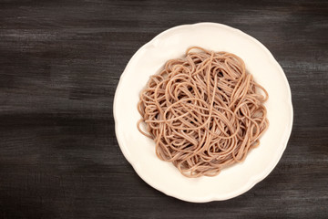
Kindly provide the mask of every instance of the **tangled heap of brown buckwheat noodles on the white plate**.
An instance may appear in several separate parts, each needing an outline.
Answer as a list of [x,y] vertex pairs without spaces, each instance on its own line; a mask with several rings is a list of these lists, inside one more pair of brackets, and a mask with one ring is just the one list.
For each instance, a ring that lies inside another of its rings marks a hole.
[[183,175],[214,176],[260,144],[269,125],[267,99],[241,57],[190,47],[149,78],[138,102],[138,130],[156,142],[159,159]]

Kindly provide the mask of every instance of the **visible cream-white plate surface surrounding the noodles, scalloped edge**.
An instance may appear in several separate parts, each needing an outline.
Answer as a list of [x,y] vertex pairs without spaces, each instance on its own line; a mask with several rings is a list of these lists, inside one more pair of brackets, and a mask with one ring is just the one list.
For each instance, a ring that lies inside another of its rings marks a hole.
[[[160,161],[155,143],[137,130],[138,95],[149,76],[170,58],[182,57],[192,46],[241,57],[247,70],[269,93],[265,106],[270,121],[260,146],[244,162],[224,169],[218,176],[196,179],[183,176],[170,162]],[[226,200],[250,190],[272,172],[282,157],[292,130],[291,90],[278,62],[255,38],[215,23],[176,26],[153,38],[129,60],[115,94],[114,118],[120,149],[146,183],[184,201]]]

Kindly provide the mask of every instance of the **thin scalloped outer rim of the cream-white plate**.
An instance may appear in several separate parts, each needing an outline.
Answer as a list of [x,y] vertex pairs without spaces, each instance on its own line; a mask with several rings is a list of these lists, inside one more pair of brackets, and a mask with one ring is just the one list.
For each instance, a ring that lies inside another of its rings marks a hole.
[[[185,28],[185,27],[195,27],[195,26],[219,26],[220,28],[225,28],[225,29],[229,29],[230,31],[235,32],[236,34],[245,36],[249,39],[251,39],[251,41],[255,44],[257,44],[258,46],[261,47],[261,49],[266,53],[266,55],[269,57],[269,61],[272,63],[272,65],[274,65],[278,71],[281,73],[282,78],[283,78],[283,82],[286,86],[287,89],[287,93],[286,93],[286,105],[288,106],[289,109],[289,113],[291,115],[291,119],[289,120],[289,124],[287,126],[287,130],[284,132],[284,139],[282,141],[282,148],[279,151],[277,151],[277,154],[279,156],[277,156],[277,159],[271,162],[271,165],[268,165],[267,168],[263,169],[263,172],[261,172],[261,174],[256,174],[253,175],[247,183],[245,183],[243,186],[241,186],[241,188],[237,191],[234,191],[233,193],[230,193],[229,195],[221,195],[219,196],[215,196],[215,194],[213,194],[210,197],[193,197],[192,199],[186,199],[182,196],[180,196],[177,193],[169,193],[169,191],[165,191],[163,189],[159,189],[159,187],[154,184],[149,182],[148,180],[145,179],[145,177],[142,176],[142,170],[140,170],[138,168],[138,161],[132,161],[131,156],[128,155],[128,151],[126,151],[126,147],[123,147],[122,145],[124,144],[122,141],[122,137],[120,137],[120,133],[118,132],[118,127],[119,127],[119,122],[118,122],[118,113],[117,113],[117,102],[118,102],[118,93],[119,90],[122,88],[122,78],[124,78],[127,75],[128,72],[128,66],[133,62],[133,60],[138,57],[138,54],[140,52],[142,52],[145,48],[149,47],[149,46],[153,46],[155,45],[156,47],[156,40],[160,37],[163,36],[171,31],[174,31],[176,29],[179,28]],[[128,64],[126,66],[126,68],[124,68],[123,73],[121,74],[121,76],[119,77],[119,81],[118,81],[118,86],[117,89],[115,91],[115,96],[114,96],[114,100],[113,100],[113,115],[114,115],[114,121],[115,121],[115,133],[116,133],[116,137],[117,137],[117,141],[118,141],[118,146],[120,148],[120,150],[122,151],[124,157],[127,159],[127,161],[130,163],[130,165],[133,167],[134,171],[137,172],[138,176],[145,182],[148,183],[151,187],[153,187],[154,189],[158,190],[161,193],[165,193],[169,196],[175,197],[179,200],[182,201],[186,201],[186,202],[190,202],[190,203],[208,203],[208,202],[212,202],[212,201],[224,201],[224,200],[228,200],[234,197],[237,197],[239,195],[241,195],[242,193],[246,193],[249,190],[251,190],[251,188],[257,184],[260,183],[262,180],[264,180],[272,171],[273,169],[277,166],[278,162],[282,159],[282,154],[283,151],[285,151],[288,141],[291,137],[291,133],[292,133],[292,123],[293,123],[293,108],[292,108],[292,91],[290,88],[290,85],[288,83],[288,79],[282,69],[282,67],[279,65],[278,61],[273,57],[272,53],[270,52],[270,50],[265,47],[263,44],[261,44],[261,42],[259,40],[257,40],[256,38],[254,38],[253,36],[250,36],[246,33],[244,33],[243,31],[241,31],[240,29],[231,27],[231,26],[227,26],[227,25],[223,25],[220,23],[213,23],[213,22],[200,22],[200,23],[195,23],[195,24],[187,24],[187,25],[180,25],[180,26],[173,26],[170,27],[169,29],[166,29],[162,32],[160,32],[157,36],[153,37],[148,43],[146,43],[145,45],[143,45],[142,47],[139,47],[137,52],[135,52],[135,54],[128,60]]]

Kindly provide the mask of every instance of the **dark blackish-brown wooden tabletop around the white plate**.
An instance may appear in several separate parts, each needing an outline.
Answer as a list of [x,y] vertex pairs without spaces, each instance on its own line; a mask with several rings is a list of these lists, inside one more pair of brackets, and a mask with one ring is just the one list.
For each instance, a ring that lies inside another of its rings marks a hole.
[[[112,104],[139,47],[203,21],[240,28],[272,51],[294,123],[281,162],[251,191],[186,203],[133,171]],[[0,217],[327,218],[327,88],[327,1],[2,0]]]

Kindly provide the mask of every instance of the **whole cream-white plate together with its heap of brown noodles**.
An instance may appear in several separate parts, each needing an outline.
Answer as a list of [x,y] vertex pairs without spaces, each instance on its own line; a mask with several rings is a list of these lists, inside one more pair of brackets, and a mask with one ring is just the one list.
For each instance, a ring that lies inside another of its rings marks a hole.
[[180,200],[245,193],[279,162],[292,95],[270,51],[230,26],[176,26],[139,48],[114,99],[118,144],[138,175]]

